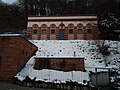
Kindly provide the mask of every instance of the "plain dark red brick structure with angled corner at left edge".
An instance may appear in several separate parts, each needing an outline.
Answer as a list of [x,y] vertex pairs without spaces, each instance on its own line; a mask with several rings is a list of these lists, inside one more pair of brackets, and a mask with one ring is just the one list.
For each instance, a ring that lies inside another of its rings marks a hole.
[[37,51],[20,35],[0,35],[0,81],[14,82],[14,76]]

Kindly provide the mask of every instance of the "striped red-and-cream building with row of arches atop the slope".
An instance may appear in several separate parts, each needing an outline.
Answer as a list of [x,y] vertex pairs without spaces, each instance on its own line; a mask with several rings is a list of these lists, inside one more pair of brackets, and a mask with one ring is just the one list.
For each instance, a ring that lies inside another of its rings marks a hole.
[[28,17],[27,34],[33,40],[99,39],[97,16]]

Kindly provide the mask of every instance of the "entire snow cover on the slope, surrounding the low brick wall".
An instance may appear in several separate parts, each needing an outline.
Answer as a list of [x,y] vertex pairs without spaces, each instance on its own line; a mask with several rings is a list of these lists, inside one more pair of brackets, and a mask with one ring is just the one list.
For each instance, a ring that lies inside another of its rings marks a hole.
[[[65,83],[66,81],[77,81],[84,84],[83,81],[89,81],[89,71],[95,71],[95,68],[119,68],[120,66],[120,42],[105,41],[109,45],[110,55],[106,58],[99,53],[98,45],[102,40],[31,40],[38,47],[36,55],[33,56],[26,66],[19,72],[16,77],[24,80],[26,76],[36,81]],[[85,58],[86,72],[70,71],[62,72],[56,70],[35,70],[34,63],[36,57],[79,57]],[[105,66],[105,59],[108,66]],[[100,69],[102,70],[102,69]],[[105,69],[104,69],[105,70]]]

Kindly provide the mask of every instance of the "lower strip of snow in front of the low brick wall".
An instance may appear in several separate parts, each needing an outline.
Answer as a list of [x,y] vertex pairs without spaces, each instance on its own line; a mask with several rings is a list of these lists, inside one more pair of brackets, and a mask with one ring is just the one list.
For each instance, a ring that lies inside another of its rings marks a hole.
[[56,70],[35,70],[35,58],[32,57],[26,66],[15,76],[20,81],[23,81],[27,76],[35,81],[53,82],[53,83],[66,83],[67,81],[78,82],[79,84],[86,84],[83,81],[89,81],[89,74],[82,71],[56,71]]

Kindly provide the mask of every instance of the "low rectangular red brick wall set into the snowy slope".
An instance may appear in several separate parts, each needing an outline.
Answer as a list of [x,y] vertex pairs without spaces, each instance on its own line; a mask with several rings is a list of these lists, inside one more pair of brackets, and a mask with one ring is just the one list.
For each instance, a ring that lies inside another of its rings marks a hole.
[[54,69],[60,71],[84,71],[84,58],[37,58],[35,69]]

